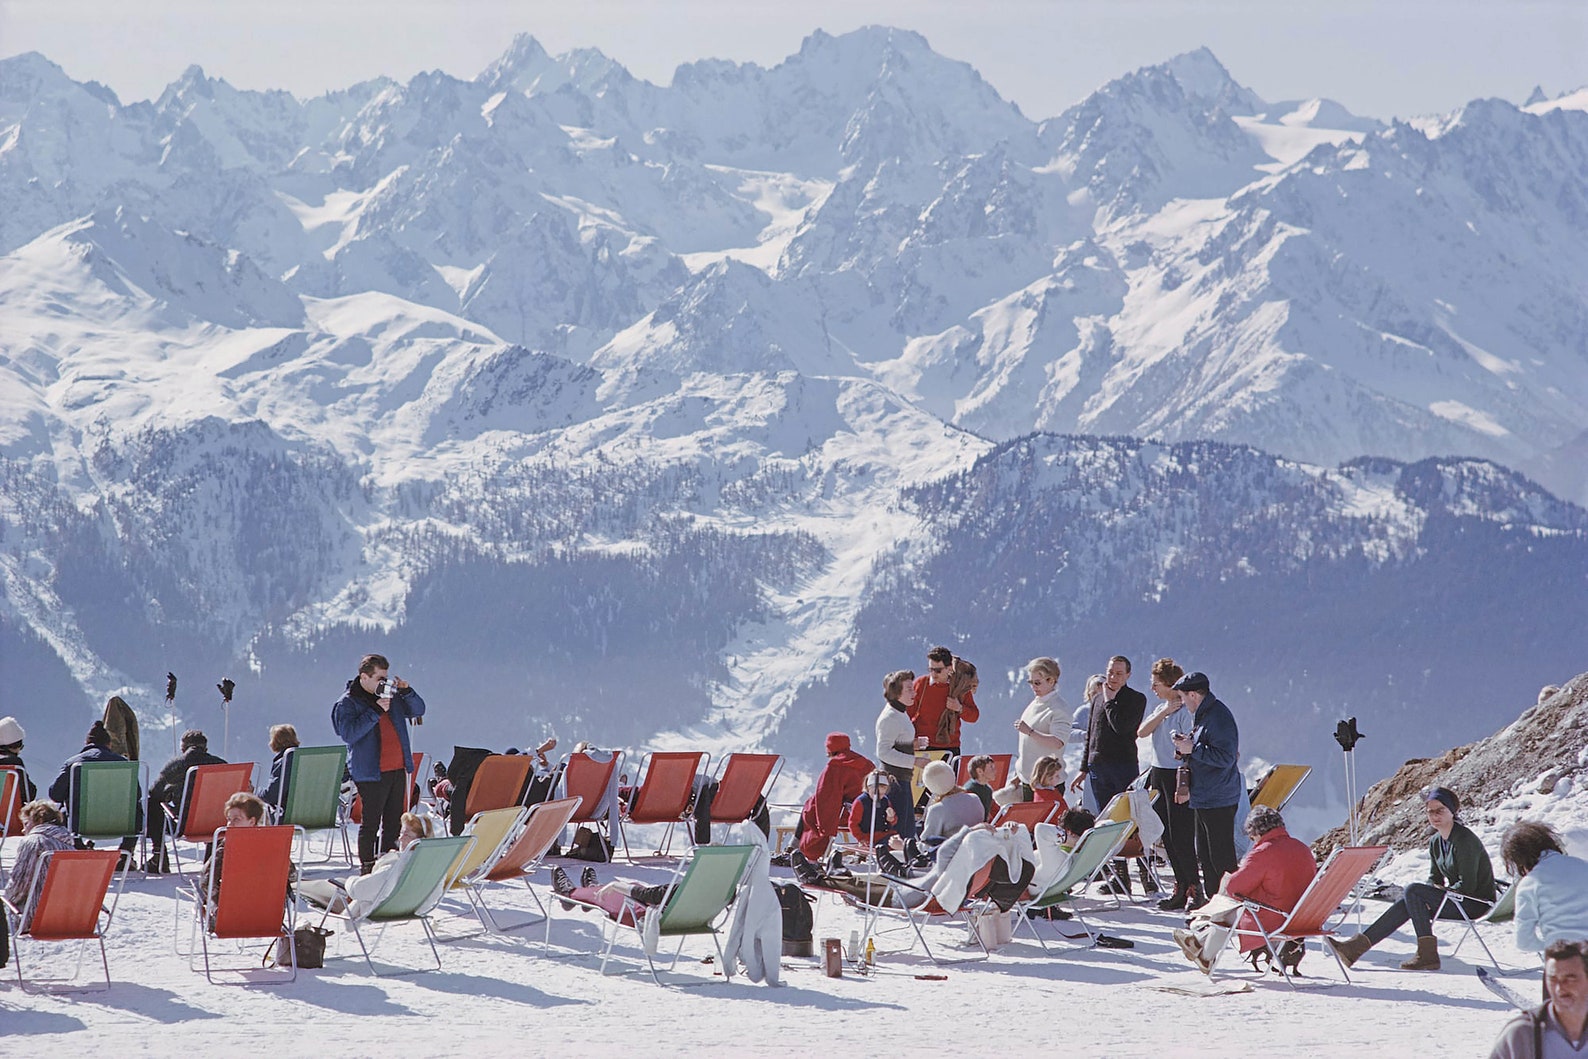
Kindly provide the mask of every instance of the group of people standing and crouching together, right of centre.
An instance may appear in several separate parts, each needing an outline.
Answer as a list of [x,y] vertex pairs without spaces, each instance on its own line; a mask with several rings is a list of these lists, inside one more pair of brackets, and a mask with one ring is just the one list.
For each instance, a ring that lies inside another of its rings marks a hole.
[[[1062,811],[1070,794],[1096,814],[1142,775],[1137,740],[1150,740],[1147,781],[1159,792],[1154,811],[1175,878],[1174,892],[1161,907],[1196,908],[1235,870],[1237,811],[1245,795],[1240,729],[1229,707],[1213,695],[1207,675],[1186,673],[1174,659],[1159,659],[1150,681],[1158,705],[1148,713],[1147,695],[1131,686],[1131,659],[1116,654],[1088,683],[1086,700],[1072,710],[1058,691],[1058,660],[1032,659],[1024,667],[1032,699],[1015,719],[1008,780],[994,791],[985,778],[991,757],[970,759],[970,781],[964,788],[946,764],[961,754],[964,726],[981,719],[977,667],[945,646],[932,648],[926,662],[919,676],[897,670],[883,680],[875,776],[872,761],[853,749],[848,735],[827,737],[827,765],[804,807],[799,843],[791,854],[796,873],[818,875],[819,861],[843,827],[875,837],[880,829],[864,819],[851,826],[845,807],[853,814],[856,803],[865,807],[862,811],[885,803],[880,814],[888,824],[883,829],[888,845],[880,848],[885,865],[891,861],[908,865],[921,856],[923,845],[991,819],[997,807],[1010,802],[1053,800],[1064,803]],[[1081,743],[1080,770],[1066,784],[1064,749],[1073,741]],[[918,800],[918,784],[924,803]],[[967,802],[962,794],[975,797]],[[926,818],[918,824],[923,805]],[[1112,884],[1129,889],[1127,873],[1116,872]]]

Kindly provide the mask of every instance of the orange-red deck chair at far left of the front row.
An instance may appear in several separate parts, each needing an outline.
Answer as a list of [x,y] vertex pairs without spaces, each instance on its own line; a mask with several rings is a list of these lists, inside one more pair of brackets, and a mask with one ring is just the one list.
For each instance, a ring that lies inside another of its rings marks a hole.
[[[105,956],[105,927],[110,926],[111,910],[105,907],[105,895],[110,892],[111,878],[116,872],[116,849],[59,849],[44,854],[38,872],[44,872],[44,884],[33,891],[33,900],[27,908],[17,908],[5,902],[11,927],[11,959],[16,961],[16,981],[24,992],[44,992],[44,989],[29,989],[22,975],[22,938],[33,942],[76,942],[78,957],[70,978],[35,978],[35,986],[70,986],[83,970],[83,949],[87,943],[98,942],[100,965],[105,969],[105,989],[110,989],[110,959]],[[119,873],[122,883],[127,873]],[[114,907],[114,902],[111,902]],[[103,926],[100,915],[105,916]],[[24,926],[25,924],[25,926]]]

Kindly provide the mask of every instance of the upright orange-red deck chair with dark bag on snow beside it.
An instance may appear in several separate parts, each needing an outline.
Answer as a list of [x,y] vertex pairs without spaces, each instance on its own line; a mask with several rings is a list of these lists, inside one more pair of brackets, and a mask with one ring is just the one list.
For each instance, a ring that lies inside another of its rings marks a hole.
[[[287,900],[287,880],[292,867],[292,845],[297,827],[276,824],[273,827],[219,827],[211,841],[225,841],[221,857],[221,889],[214,900],[214,915],[206,916],[200,894],[211,889],[206,876],[194,891],[194,930],[203,948],[203,973],[214,981],[210,964],[210,938],[286,938],[292,953],[287,967],[260,972],[254,957],[240,970],[268,973],[278,981],[297,980],[297,943],[294,940],[297,902]],[[213,864],[213,862],[211,862]],[[189,962],[189,967],[192,964]]]

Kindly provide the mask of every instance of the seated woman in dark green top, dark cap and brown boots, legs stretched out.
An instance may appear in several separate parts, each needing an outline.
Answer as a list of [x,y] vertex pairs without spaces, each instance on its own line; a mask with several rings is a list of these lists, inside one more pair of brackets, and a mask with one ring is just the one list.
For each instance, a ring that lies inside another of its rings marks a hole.
[[[1324,940],[1347,967],[1361,959],[1363,953],[1396,932],[1407,919],[1416,934],[1416,956],[1401,964],[1404,970],[1439,970],[1439,948],[1434,938],[1434,916],[1459,919],[1455,902],[1461,902],[1469,918],[1475,919],[1494,903],[1494,865],[1488,849],[1463,822],[1456,819],[1461,800],[1450,788],[1423,791],[1428,822],[1434,835],[1428,840],[1428,883],[1410,883],[1401,900],[1385,908],[1383,915],[1361,934],[1343,942]],[[1445,903],[1445,895],[1453,897]]]

